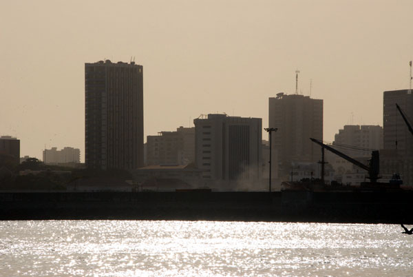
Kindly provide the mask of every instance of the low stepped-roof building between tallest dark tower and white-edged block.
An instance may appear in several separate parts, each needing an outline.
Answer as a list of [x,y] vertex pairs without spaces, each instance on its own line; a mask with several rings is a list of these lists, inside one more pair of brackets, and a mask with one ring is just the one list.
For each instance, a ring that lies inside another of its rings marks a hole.
[[188,165],[195,161],[195,128],[147,136],[147,165]]

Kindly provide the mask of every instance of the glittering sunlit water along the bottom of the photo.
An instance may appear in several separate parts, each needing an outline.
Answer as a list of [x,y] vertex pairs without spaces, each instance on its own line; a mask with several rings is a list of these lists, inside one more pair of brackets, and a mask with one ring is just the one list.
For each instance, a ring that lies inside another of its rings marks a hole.
[[413,276],[400,225],[0,222],[0,276]]

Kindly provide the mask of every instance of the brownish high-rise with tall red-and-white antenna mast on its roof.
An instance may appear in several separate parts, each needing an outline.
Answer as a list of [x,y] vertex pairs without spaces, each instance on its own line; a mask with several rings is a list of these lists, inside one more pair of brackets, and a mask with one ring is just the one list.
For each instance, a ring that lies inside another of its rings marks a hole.
[[272,134],[272,150],[279,178],[286,178],[294,163],[321,159],[319,145],[310,138],[323,139],[323,100],[281,92],[269,99],[269,127],[278,129]]

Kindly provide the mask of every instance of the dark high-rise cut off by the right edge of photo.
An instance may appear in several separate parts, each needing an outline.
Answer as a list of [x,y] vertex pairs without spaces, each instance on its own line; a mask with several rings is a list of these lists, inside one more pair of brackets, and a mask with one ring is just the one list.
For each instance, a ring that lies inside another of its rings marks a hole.
[[383,150],[381,174],[399,173],[405,185],[413,185],[413,135],[396,108],[413,124],[413,90],[383,92]]

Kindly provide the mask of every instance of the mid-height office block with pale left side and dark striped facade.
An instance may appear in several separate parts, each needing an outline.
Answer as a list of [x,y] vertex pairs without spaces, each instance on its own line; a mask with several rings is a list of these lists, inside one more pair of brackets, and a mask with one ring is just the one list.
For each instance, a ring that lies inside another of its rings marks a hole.
[[195,124],[195,164],[211,181],[261,178],[262,119],[208,114]]

